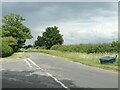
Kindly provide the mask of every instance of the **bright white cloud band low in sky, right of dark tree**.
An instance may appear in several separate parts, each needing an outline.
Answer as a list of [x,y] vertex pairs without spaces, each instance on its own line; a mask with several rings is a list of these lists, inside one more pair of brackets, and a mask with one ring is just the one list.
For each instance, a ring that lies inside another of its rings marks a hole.
[[[46,27],[56,25],[63,35],[64,44],[111,42],[112,40],[118,39],[117,17],[109,19],[104,19],[104,17],[96,18],[96,22],[91,23],[78,22],[78,20],[66,21],[37,27],[34,29],[34,34],[36,37],[42,35]],[[34,37],[32,41],[34,41],[36,37]]]

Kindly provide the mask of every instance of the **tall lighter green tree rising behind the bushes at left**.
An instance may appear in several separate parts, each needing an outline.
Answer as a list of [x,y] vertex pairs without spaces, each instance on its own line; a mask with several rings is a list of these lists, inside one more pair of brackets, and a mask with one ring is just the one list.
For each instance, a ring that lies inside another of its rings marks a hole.
[[5,15],[2,19],[2,37],[13,37],[17,40],[17,47],[21,48],[26,39],[31,39],[30,29],[22,22],[25,21],[20,15]]

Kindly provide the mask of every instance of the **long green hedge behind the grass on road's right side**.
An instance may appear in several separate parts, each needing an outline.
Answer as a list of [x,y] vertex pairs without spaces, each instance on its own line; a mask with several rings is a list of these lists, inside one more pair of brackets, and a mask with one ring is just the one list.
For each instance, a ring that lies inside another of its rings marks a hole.
[[58,50],[65,52],[81,52],[88,54],[118,52],[118,42],[114,41],[112,43],[80,44],[80,45],[54,45],[51,47],[51,50]]

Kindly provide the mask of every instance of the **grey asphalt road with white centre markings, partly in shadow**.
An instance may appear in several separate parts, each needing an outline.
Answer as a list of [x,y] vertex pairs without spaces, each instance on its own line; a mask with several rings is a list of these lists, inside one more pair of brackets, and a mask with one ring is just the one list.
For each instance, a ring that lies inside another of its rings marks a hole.
[[3,88],[118,88],[118,73],[28,52],[27,59],[2,61]]

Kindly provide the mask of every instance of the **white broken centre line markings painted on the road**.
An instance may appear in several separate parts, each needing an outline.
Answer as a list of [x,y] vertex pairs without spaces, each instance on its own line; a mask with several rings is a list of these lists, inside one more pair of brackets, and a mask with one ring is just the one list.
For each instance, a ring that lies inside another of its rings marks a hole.
[[[37,67],[37,69],[40,69],[40,70],[42,70],[42,71],[44,71],[44,69],[42,69],[42,68],[40,68],[35,62],[33,62],[31,59],[29,59],[29,58],[27,58],[27,60],[28,61],[30,61],[33,65],[35,65],[36,67]],[[25,61],[27,61],[27,60],[25,60]],[[28,62],[27,61],[27,62]],[[26,62],[26,63],[27,63]],[[29,63],[30,64],[30,63]],[[28,64],[28,65],[29,65]],[[31,66],[31,65],[30,65]],[[57,80],[57,78],[55,78],[54,76],[52,76],[50,73],[47,73],[46,72],[46,74],[48,75],[48,76],[50,76],[51,78],[53,78],[57,83],[59,83],[63,88],[65,88],[65,89],[67,89],[67,90],[70,90],[67,86],[65,86],[61,81],[59,81],[59,80]]]

